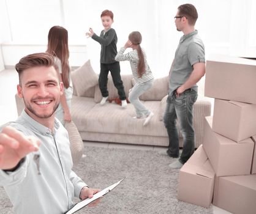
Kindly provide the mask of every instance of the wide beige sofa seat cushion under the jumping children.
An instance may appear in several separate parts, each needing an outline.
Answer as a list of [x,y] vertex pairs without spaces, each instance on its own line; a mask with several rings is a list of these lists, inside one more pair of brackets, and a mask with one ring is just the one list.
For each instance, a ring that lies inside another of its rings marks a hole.
[[89,111],[87,117],[81,118],[78,130],[94,133],[166,137],[167,131],[164,123],[159,121],[157,117],[159,101],[143,101],[143,103],[155,114],[146,127],[143,127],[145,119],[133,118],[135,116],[135,108],[132,104],[129,103],[127,108],[123,109],[116,103],[107,102],[104,106],[97,103]]

